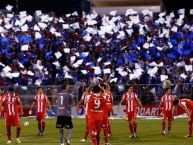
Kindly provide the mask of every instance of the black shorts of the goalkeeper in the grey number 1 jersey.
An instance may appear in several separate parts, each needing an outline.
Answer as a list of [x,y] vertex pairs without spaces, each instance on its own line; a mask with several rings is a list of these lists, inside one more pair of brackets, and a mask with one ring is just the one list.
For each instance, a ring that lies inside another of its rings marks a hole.
[[58,116],[57,122],[56,122],[56,128],[66,128],[66,129],[72,129],[72,118],[71,116]]

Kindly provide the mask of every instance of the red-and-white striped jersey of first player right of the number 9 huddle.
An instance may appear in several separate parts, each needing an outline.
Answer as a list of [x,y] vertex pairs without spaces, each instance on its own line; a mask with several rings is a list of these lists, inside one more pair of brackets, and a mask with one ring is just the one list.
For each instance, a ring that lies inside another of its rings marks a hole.
[[136,93],[125,93],[123,101],[126,104],[126,112],[136,112],[138,95]]

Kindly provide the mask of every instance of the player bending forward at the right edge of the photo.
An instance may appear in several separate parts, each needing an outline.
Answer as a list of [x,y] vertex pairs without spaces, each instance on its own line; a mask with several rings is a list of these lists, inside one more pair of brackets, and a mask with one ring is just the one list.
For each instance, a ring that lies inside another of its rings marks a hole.
[[175,100],[173,103],[174,106],[179,105],[182,107],[185,112],[188,115],[188,127],[189,127],[189,132],[188,135],[185,137],[192,137],[192,123],[193,123],[193,101],[189,99],[181,99],[181,100]]

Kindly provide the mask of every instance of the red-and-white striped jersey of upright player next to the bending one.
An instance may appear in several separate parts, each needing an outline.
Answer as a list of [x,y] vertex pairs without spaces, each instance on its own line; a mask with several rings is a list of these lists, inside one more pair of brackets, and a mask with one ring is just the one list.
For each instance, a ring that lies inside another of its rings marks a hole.
[[172,111],[174,96],[173,95],[164,95],[161,98],[161,102],[163,103],[163,111]]

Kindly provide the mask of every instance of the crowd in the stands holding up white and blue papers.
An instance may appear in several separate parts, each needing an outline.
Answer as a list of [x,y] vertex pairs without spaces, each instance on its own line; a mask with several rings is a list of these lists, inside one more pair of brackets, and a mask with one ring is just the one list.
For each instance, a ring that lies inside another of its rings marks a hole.
[[111,84],[193,83],[193,21],[184,9],[82,17],[6,9],[0,12],[0,86],[86,84],[103,76]]

